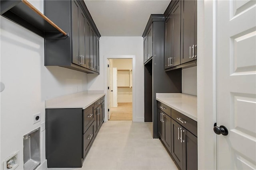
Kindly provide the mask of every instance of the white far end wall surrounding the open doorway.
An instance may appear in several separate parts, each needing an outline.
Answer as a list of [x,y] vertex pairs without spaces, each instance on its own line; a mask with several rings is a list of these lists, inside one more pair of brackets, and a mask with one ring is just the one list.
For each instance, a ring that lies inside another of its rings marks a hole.
[[[136,106],[133,121],[144,121],[144,71],[143,71],[143,38],[142,37],[100,37],[100,75],[88,74],[88,90],[105,90],[104,56],[135,55],[136,66]],[[106,81],[107,82],[107,81]],[[134,90],[134,89],[133,89]],[[105,100],[106,101],[106,100]],[[106,117],[106,116],[105,116]],[[106,120],[105,120],[106,121]]]

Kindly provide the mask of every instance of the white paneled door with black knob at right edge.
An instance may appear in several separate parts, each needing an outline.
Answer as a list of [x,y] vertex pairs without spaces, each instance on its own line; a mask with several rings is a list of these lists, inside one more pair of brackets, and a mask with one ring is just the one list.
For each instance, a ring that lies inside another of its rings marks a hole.
[[217,1],[217,169],[256,169],[256,1]]

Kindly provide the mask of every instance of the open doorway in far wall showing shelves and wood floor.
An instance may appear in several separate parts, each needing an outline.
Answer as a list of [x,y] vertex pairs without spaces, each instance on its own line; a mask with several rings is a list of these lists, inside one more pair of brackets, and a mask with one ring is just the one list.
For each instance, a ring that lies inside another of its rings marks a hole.
[[108,59],[108,120],[132,121],[132,59]]

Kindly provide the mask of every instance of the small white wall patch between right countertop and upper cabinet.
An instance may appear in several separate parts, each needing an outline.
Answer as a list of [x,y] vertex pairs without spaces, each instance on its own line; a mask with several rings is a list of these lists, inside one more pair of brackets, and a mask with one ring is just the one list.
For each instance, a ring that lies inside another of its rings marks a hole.
[[196,66],[182,69],[182,93],[197,96]]

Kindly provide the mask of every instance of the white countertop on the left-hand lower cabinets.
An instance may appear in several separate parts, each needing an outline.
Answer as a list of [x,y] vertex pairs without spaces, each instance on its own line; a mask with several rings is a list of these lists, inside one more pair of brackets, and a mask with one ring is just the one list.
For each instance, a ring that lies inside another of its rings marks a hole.
[[58,98],[50,99],[45,101],[46,109],[56,109],[56,108],[82,108],[90,106],[98,99],[103,97],[105,94],[102,91],[94,92],[78,92],[74,94],[69,94],[61,96]]

